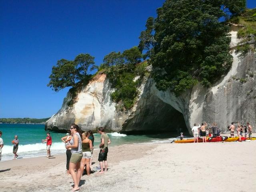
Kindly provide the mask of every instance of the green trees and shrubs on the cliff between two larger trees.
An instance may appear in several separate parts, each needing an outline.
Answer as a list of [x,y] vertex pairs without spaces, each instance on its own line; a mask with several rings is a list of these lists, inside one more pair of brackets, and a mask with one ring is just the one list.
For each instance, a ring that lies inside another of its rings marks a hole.
[[138,47],[134,46],[122,54],[111,52],[106,55],[103,60],[104,63],[98,68],[99,72],[107,74],[112,88],[116,89],[111,94],[111,98],[114,102],[119,103],[122,109],[130,109],[138,94],[136,89],[138,81],[134,82],[134,77],[139,75],[142,78],[145,68],[148,66],[146,61],[139,63],[140,59],[141,52]]

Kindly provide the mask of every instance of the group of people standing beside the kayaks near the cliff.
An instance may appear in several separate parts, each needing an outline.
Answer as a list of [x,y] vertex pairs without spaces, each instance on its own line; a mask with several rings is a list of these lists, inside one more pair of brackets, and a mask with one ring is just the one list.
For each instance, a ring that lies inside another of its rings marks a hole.
[[[246,126],[240,125],[239,122],[237,122],[238,126],[237,126],[237,128],[235,128],[234,123],[235,122],[232,122],[231,126],[228,126],[228,130],[230,130],[230,136],[232,138],[234,138],[235,129],[236,129],[237,135],[239,137],[239,141],[241,141],[241,138],[243,136],[243,131],[244,131],[244,136],[246,138],[252,137],[252,126],[250,125],[249,122],[246,123],[248,128]],[[198,142],[198,138],[200,136],[202,137],[203,142],[206,142],[206,137],[220,136],[220,129],[217,127],[217,124],[215,122],[212,124],[212,127],[209,128],[209,130],[208,130],[207,126],[208,126],[208,124],[206,122],[202,123],[201,125],[198,124],[198,126],[196,123],[194,124],[194,126],[191,129],[193,136],[194,136],[194,142]],[[180,139],[182,140],[183,137],[184,137],[183,133],[181,133]]]

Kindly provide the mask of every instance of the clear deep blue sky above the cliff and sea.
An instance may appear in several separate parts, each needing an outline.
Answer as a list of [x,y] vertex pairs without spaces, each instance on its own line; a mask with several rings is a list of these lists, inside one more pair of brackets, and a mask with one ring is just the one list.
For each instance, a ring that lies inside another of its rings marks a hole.
[[[89,53],[101,64],[112,51],[137,46],[164,0],[8,0],[0,2],[0,118],[46,118],[69,88],[46,85],[57,60]],[[247,2],[255,8],[256,2]]]

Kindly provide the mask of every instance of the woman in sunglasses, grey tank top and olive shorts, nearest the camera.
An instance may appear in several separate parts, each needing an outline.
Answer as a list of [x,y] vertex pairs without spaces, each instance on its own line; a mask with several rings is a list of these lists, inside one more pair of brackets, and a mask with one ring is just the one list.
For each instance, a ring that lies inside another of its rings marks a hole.
[[[74,181],[74,188],[72,191],[79,190],[79,182],[81,178],[81,159],[82,159],[82,132],[81,129],[76,124],[72,124],[70,127],[70,132],[73,135],[70,140],[70,145],[66,145],[66,149],[71,148],[71,158],[69,162],[69,172]],[[75,171],[76,170],[76,171]]]

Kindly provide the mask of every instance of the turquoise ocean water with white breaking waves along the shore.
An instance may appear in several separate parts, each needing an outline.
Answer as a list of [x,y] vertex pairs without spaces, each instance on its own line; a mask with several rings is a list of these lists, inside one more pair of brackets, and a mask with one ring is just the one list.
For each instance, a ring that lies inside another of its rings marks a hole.
[[[46,156],[46,143],[42,143],[42,139],[46,138],[48,131],[44,130],[43,124],[0,124],[0,131],[2,131],[2,139],[4,140],[4,147],[2,148],[2,161],[12,160],[14,154],[12,153],[12,140],[15,135],[18,135],[20,140],[17,154],[19,158],[33,158],[38,156]],[[51,155],[66,153],[64,143],[60,140],[66,134],[50,132],[52,137]],[[170,142],[174,136],[170,134],[156,134],[156,135],[126,135],[117,132],[108,133],[111,140],[111,146],[132,143],[160,143]],[[97,150],[100,144],[100,134],[94,134],[94,150]]]

